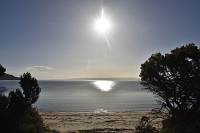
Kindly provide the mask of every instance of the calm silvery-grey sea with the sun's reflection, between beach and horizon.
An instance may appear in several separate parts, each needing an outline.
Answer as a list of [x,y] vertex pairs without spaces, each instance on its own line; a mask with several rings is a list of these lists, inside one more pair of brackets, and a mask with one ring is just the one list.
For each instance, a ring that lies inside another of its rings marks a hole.
[[[9,91],[20,88],[19,81],[0,81]],[[139,81],[39,81],[42,91],[34,106],[40,111],[126,112],[150,111],[157,107],[152,93]]]

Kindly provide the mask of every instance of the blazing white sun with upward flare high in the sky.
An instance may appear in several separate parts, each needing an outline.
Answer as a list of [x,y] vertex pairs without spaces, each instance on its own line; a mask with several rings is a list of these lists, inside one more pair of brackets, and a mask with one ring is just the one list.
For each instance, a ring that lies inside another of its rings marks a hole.
[[94,23],[95,30],[105,35],[111,29],[111,22],[108,18],[105,17],[104,10],[101,10],[101,15],[95,20]]

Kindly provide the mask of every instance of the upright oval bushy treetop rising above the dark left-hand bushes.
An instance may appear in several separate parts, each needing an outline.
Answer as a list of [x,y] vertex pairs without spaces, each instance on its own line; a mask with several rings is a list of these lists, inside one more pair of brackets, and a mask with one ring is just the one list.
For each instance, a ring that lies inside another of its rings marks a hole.
[[30,104],[35,103],[38,100],[41,91],[41,88],[39,87],[37,80],[33,78],[31,74],[28,72],[24,73],[20,77],[20,79],[21,80],[19,84],[23,90],[26,102]]

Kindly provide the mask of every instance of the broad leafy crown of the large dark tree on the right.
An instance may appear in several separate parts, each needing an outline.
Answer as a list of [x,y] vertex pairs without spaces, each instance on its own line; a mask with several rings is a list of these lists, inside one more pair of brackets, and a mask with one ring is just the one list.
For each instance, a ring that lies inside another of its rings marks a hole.
[[173,117],[200,109],[200,49],[194,44],[152,55],[141,66],[142,84]]

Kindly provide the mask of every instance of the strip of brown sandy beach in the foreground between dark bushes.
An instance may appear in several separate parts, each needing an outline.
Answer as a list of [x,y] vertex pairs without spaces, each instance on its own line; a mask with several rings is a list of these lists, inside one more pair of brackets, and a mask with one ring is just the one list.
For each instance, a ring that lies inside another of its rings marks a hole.
[[117,132],[134,133],[135,126],[147,112],[73,113],[41,112],[50,129],[61,133]]

